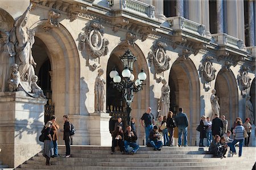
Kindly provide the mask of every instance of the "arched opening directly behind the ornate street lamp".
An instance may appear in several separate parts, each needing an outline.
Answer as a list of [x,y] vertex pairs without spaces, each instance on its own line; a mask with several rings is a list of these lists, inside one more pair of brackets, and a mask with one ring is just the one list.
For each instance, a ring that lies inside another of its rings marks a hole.
[[[122,42],[120,43],[122,44]],[[135,76],[135,80],[138,79],[137,76],[141,69],[144,70],[144,72],[148,75],[148,66],[146,59],[141,51],[141,49],[135,45],[133,47],[125,48],[123,49],[123,46],[117,46],[112,54],[110,54],[110,58],[108,61],[107,71],[106,71],[106,105],[107,105],[107,111],[110,111],[110,108],[114,109],[117,108],[118,110],[115,111],[116,113],[126,113],[126,102],[125,99],[122,96],[122,93],[119,92],[116,88],[113,88],[113,85],[110,83],[112,82],[112,79],[109,76],[110,71],[112,71],[113,67],[117,69],[119,75],[121,75],[123,70],[123,65],[121,60],[119,59],[120,56],[122,56],[125,51],[129,49],[131,53],[137,57],[137,61],[134,62],[133,65],[133,74]],[[137,92],[137,94],[134,92],[134,99],[133,103],[131,104],[131,117],[134,117],[136,122],[136,133],[138,135],[138,143],[139,145],[143,145],[144,140],[144,129],[141,128],[139,124],[139,120],[141,119],[142,114],[146,111],[146,107],[149,105],[149,77],[147,76],[147,79],[144,81],[146,86],[143,86],[143,90]],[[117,105],[117,107],[111,107],[111,104]],[[114,113],[114,112],[113,112]],[[116,114],[115,114],[116,117]],[[126,120],[123,120],[123,122],[126,122]]]

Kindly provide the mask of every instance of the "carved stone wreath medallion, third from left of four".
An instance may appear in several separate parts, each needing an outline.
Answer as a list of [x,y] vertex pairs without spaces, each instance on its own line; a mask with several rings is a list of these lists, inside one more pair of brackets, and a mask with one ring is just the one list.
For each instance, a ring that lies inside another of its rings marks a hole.
[[215,79],[216,69],[214,69],[212,66],[212,60],[213,57],[207,56],[200,65],[200,72],[203,74],[206,82],[211,82]]

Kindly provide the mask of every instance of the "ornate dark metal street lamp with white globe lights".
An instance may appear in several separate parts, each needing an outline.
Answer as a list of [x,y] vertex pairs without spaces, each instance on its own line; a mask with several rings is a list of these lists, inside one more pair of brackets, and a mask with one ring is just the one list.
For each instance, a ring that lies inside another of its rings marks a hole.
[[133,93],[142,90],[142,86],[145,85],[143,81],[146,80],[147,75],[141,70],[141,73],[138,74],[138,79],[134,81],[133,63],[137,61],[137,57],[133,56],[130,50],[127,50],[120,58],[124,67],[122,78],[115,69],[110,71],[109,76],[113,79],[113,87],[122,91],[123,97],[125,97],[127,125],[130,125],[131,103],[133,103],[134,98]]

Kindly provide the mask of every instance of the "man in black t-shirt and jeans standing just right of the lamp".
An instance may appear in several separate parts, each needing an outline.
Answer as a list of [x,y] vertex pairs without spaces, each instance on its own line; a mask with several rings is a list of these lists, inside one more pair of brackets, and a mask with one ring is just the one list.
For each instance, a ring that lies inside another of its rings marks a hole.
[[[144,121],[144,125],[143,125]],[[151,107],[147,107],[146,113],[144,113],[140,120],[141,126],[145,128],[146,133],[146,145],[149,142],[150,131],[153,129],[153,125],[155,124],[154,115],[151,113]]]

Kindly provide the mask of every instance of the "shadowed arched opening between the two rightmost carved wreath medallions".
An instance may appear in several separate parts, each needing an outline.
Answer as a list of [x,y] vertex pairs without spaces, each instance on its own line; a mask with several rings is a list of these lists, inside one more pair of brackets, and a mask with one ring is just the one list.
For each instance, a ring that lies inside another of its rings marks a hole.
[[220,104],[220,116],[225,115],[228,129],[238,116],[238,90],[236,78],[232,71],[220,70],[215,82],[216,95]]

